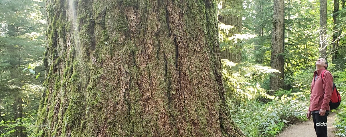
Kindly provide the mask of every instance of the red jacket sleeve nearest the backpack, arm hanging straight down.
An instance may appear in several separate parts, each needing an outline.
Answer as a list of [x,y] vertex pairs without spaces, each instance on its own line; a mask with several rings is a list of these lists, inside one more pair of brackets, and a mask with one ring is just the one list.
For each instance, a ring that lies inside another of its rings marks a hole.
[[331,76],[331,73],[329,71],[326,71],[324,74],[323,89],[325,92],[321,109],[329,110],[329,101],[333,92],[333,76]]

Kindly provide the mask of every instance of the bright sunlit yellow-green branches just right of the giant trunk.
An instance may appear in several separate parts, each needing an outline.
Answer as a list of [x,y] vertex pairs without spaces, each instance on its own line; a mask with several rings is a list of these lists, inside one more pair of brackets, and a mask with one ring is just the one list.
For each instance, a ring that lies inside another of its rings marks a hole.
[[271,73],[278,70],[251,62],[234,63],[227,59],[221,59],[221,63],[226,97],[234,104],[246,105],[258,97],[272,97],[267,94],[266,82]]

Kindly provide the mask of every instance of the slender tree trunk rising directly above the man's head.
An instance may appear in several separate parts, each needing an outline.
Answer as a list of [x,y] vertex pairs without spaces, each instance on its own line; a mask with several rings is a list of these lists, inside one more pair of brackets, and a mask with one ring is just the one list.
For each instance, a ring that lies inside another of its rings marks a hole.
[[326,25],[327,25],[327,0],[320,0],[320,58],[325,58],[327,61],[327,39],[326,39]]

